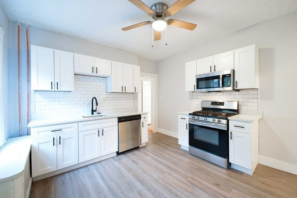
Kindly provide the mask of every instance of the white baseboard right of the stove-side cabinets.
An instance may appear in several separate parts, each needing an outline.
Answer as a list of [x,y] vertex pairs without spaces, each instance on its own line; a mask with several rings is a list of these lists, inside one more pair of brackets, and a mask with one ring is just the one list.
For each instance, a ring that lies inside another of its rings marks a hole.
[[259,155],[259,164],[297,175],[297,165]]

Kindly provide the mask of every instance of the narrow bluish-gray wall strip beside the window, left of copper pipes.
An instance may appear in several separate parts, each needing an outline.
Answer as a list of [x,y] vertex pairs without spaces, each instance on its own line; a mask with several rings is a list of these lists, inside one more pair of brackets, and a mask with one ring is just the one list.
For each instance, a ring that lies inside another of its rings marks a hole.
[[8,40],[9,40],[9,19],[7,18],[3,8],[0,5],[0,26],[4,30],[4,37],[3,37],[3,68],[2,68],[2,83],[3,83],[3,98],[1,97],[1,100],[3,100],[4,104],[4,139],[6,140],[9,137],[9,124],[8,124],[8,112],[9,112],[9,107],[8,107],[8,94],[9,94],[9,89],[8,89]]

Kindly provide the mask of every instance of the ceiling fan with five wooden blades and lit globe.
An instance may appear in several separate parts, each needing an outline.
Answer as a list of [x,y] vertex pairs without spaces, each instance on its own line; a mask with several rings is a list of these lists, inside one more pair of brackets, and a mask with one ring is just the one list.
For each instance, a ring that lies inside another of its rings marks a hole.
[[[166,17],[170,17],[171,15],[175,14],[179,10],[183,9],[187,5],[191,4],[192,2],[196,0],[178,0],[176,1],[172,6],[168,8],[168,6],[165,3],[155,3],[149,8],[140,0],[128,0],[144,12],[146,12],[148,15],[150,15],[153,18],[153,21],[146,21],[142,23],[138,23],[132,26],[128,26],[125,28],[122,28],[123,31],[131,30],[133,28],[138,28],[141,26],[145,26],[148,24],[151,24],[152,28],[155,31],[154,34],[154,40],[160,40],[161,39],[161,31],[166,28],[167,25],[175,26],[178,28],[184,28],[187,30],[194,30],[196,28],[196,24],[188,23],[180,20],[175,19],[168,19],[165,20]],[[167,45],[167,43],[166,43]]]

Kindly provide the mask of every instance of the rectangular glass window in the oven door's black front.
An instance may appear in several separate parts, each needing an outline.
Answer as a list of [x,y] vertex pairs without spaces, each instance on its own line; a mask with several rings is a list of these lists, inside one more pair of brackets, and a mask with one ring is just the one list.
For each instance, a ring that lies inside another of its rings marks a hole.
[[219,145],[219,132],[213,129],[205,129],[197,127],[194,131],[194,139],[207,142],[212,145]]

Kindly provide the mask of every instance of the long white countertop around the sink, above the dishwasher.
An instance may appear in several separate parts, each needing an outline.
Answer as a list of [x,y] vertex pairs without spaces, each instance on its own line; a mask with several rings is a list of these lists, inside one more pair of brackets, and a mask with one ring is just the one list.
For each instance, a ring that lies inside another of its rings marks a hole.
[[74,123],[74,122],[83,122],[83,121],[90,121],[90,120],[101,120],[101,119],[108,119],[108,118],[117,118],[121,116],[128,116],[128,115],[143,115],[147,114],[148,112],[143,111],[122,111],[122,112],[114,112],[114,113],[102,113],[102,115],[107,115],[104,117],[90,117],[90,118],[83,118],[83,115],[80,114],[68,114],[64,116],[58,117],[49,117],[49,118],[36,118],[32,119],[28,127],[39,127],[39,126],[50,126],[56,124],[66,124],[66,123]]

